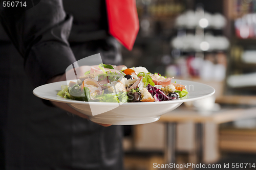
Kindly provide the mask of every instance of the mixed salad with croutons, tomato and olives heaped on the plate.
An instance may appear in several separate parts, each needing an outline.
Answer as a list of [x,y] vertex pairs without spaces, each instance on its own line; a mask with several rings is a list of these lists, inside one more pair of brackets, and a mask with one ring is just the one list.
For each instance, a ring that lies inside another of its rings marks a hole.
[[162,102],[179,100],[186,87],[171,83],[173,78],[152,74],[145,67],[127,68],[99,64],[69,85],[61,85],[57,95],[86,102]]

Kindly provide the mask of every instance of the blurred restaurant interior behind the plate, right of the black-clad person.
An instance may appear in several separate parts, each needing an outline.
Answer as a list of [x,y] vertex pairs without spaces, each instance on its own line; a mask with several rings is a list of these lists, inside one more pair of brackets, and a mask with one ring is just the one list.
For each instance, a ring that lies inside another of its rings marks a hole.
[[256,160],[256,1],[136,2],[140,31],[133,50],[122,50],[124,65],[208,84],[216,93],[156,123],[125,126],[125,168]]

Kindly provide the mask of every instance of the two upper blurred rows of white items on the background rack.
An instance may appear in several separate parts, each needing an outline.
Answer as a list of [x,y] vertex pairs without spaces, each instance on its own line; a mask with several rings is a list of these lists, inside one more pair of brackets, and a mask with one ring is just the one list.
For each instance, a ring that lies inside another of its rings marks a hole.
[[177,37],[170,45],[182,52],[225,52],[229,47],[222,32],[225,25],[223,15],[210,14],[198,6],[196,11],[188,10],[176,18]]

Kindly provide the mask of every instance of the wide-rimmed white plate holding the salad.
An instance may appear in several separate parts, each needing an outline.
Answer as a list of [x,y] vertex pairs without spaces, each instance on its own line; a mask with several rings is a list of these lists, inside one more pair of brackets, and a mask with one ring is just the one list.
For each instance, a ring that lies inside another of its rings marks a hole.
[[[118,107],[116,107],[118,103],[82,102],[61,98],[57,95],[57,92],[61,90],[61,84],[67,85],[66,81],[39,86],[33,90],[33,93],[42,99],[67,103],[75,110],[88,115],[93,122],[112,125],[152,123],[157,121],[161,115],[179,107],[183,102],[204,99],[215,93],[214,88],[202,83],[172,80],[172,82],[175,81],[187,87],[189,94],[183,99],[164,102],[122,103]],[[108,111],[95,115],[92,113],[90,106],[94,109],[97,108],[101,112],[102,110]]]

